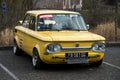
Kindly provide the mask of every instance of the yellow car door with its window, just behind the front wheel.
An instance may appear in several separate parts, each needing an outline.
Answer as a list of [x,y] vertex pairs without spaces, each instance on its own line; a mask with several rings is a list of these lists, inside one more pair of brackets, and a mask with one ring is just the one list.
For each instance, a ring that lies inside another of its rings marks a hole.
[[31,15],[28,24],[29,25],[27,25],[27,30],[25,32],[26,34],[24,37],[24,47],[25,47],[25,51],[29,55],[32,55],[32,50],[35,45],[35,42],[34,42],[35,38],[33,34],[35,33],[36,17]]

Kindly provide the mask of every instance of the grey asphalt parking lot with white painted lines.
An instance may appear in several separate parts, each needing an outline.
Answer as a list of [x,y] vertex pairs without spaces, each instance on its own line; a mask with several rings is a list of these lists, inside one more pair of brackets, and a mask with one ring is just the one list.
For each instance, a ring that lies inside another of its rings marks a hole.
[[109,47],[99,68],[88,65],[47,65],[35,70],[31,57],[0,50],[0,80],[120,80],[120,47]]

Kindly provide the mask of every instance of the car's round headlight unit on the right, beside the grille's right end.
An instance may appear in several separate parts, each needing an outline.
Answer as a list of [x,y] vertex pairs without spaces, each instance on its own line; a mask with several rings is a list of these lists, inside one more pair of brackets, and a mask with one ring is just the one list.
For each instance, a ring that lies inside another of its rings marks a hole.
[[92,50],[98,51],[98,52],[100,52],[100,51],[104,52],[105,51],[105,44],[104,43],[95,43],[92,46]]

